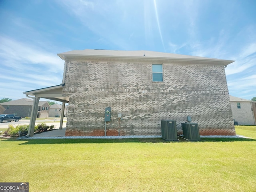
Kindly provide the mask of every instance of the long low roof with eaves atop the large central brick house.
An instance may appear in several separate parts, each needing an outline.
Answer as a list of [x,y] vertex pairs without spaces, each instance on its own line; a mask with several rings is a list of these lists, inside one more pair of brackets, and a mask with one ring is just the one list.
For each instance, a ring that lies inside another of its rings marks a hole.
[[162,52],[154,52],[154,51],[120,51],[120,50],[93,50],[93,49],[85,49],[85,50],[73,50],[68,52],[63,52],[57,54],[62,59],[82,59],[82,60],[109,60],[109,59],[136,59],[136,60],[156,60],[156,61],[182,61],[188,62],[190,64],[216,64],[216,65],[228,65],[233,60],[222,60],[222,59],[214,59],[214,58],[206,58],[206,57],[198,57],[198,56],[187,56],[180,54],[172,54],[172,53],[162,53]]

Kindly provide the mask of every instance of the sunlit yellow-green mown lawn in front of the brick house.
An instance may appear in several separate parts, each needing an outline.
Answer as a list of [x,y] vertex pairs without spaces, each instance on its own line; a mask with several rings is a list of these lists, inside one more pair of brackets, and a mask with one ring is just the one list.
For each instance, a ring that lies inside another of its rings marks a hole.
[[256,126],[236,131],[252,139],[2,139],[0,182],[29,182],[31,192],[255,191]]

